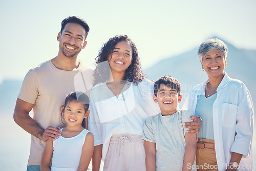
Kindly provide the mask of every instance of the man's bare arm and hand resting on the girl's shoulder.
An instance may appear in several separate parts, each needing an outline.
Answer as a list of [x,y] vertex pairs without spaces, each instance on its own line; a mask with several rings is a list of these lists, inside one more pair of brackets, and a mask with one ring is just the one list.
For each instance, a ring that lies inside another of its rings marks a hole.
[[47,129],[44,130],[29,116],[29,112],[32,110],[33,106],[34,104],[17,98],[13,114],[14,121],[29,134],[42,141],[46,142],[47,140],[55,140],[55,138],[58,138],[56,135],[61,135],[59,127],[48,126]]

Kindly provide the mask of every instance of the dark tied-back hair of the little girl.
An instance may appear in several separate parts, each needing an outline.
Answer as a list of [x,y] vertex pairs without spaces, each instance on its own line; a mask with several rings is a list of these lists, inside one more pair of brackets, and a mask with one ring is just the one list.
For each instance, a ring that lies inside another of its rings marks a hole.
[[[64,113],[65,108],[66,108],[68,102],[70,102],[70,101],[76,101],[76,102],[83,104],[85,112],[87,112],[89,109],[90,99],[86,94],[84,94],[83,92],[71,92],[66,96],[65,103],[63,105],[64,108],[62,109],[61,113]],[[61,115],[61,117],[62,117],[62,115]],[[62,121],[62,123],[63,123],[63,121]],[[85,129],[88,129],[88,118],[83,118],[82,126]]]

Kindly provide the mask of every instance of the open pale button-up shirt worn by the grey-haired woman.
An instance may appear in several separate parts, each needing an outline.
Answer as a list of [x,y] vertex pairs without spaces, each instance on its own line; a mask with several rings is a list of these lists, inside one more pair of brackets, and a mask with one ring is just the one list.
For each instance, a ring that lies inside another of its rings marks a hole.
[[[205,83],[189,92],[183,108],[195,114],[197,98],[205,95]],[[216,158],[219,170],[225,170],[231,153],[243,154],[240,168],[252,170],[253,104],[245,84],[231,79],[226,73],[218,89],[212,106]],[[247,167],[247,168],[246,168]]]

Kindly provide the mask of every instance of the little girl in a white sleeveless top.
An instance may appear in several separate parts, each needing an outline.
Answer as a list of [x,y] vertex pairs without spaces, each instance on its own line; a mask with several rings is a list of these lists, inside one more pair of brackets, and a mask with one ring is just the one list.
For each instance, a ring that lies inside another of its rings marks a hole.
[[[48,140],[41,160],[41,170],[86,170],[93,154],[94,136],[87,130],[90,114],[89,97],[82,92],[69,93],[61,106],[61,117],[67,126],[60,129],[61,136]],[[84,127],[82,126],[86,125]]]

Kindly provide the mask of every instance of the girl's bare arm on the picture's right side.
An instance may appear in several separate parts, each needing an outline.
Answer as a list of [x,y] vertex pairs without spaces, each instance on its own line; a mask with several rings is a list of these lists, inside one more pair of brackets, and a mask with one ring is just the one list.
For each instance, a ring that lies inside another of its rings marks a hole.
[[87,170],[93,156],[93,148],[94,148],[94,136],[92,133],[89,132],[87,133],[86,139],[84,140],[84,144],[82,147],[82,154],[81,154],[77,171]]

